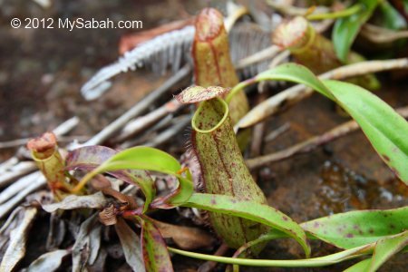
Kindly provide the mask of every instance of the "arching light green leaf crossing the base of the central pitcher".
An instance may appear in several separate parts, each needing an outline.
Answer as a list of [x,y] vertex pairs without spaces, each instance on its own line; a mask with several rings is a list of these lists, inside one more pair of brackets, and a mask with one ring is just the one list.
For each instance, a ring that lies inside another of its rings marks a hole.
[[277,228],[289,237],[295,238],[304,248],[306,257],[310,256],[305,231],[287,215],[266,204],[223,195],[194,193],[183,206],[237,216]]

